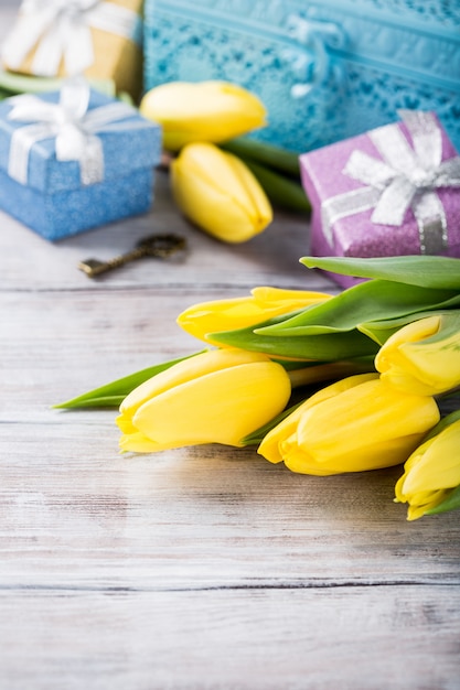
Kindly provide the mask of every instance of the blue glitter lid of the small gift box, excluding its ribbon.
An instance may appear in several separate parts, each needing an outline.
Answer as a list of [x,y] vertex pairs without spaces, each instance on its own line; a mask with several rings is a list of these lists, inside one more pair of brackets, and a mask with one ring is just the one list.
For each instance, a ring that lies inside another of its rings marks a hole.
[[[58,104],[60,98],[61,91],[40,95],[40,100],[45,104]],[[15,97],[0,103],[0,169],[7,172],[14,131],[34,122],[34,119],[29,121],[10,119],[9,116],[17,103]],[[120,101],[92,89],[86,114],[94,114],[98,108],[109,104],[121,105]],[[161,129],[157,123],[141,117],[136,108],[127,105],[125,109],[116,110],[118,114],[114,121],[100,123],[96,131],[93,127],[93,132],[101,144],[104,181],[126,176],[141,168],[153,168],[159,162],[161,153]],[[79,162],[57,160],[55,137],[47,137],[33,143],[25,165],[28,186],[40,192],[53,194],[82,186]]]

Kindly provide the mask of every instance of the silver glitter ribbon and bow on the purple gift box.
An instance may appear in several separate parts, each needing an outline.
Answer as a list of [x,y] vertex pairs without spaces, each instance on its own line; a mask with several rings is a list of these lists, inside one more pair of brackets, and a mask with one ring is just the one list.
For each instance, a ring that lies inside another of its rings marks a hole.
[[420,252],[441,254],[448,246],[441,187],[460,187],[460,157],[442,161],[442,139],[431,112],[399,110],[411,140],[411,148],[399,125],[387,125],[367,132],[382,160],[355,150],[343,174],[366,186],[333,196],[322,203],[324,235],[333,246],[333,226],[340,219],[374,208],[374,224],[399,227],[411,208],[417,222]]

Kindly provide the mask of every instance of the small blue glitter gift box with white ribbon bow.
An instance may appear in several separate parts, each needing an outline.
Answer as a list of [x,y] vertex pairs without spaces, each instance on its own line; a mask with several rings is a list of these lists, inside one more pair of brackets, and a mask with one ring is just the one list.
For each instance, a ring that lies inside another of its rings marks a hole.
[[0,103],[0,208],[49,240],[147,213],[161,129],[69,78]]

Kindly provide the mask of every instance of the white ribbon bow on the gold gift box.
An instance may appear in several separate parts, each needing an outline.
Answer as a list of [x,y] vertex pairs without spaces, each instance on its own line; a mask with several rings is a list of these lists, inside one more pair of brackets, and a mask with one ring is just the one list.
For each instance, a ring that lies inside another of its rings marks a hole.
[[68,75],[81,74],[94,63],[92,28],[137,41],[138,23],[136,12],[104,0],[23,0],[2,60],[20,69],[36,46],[32,74],[55,76],[62,60]]

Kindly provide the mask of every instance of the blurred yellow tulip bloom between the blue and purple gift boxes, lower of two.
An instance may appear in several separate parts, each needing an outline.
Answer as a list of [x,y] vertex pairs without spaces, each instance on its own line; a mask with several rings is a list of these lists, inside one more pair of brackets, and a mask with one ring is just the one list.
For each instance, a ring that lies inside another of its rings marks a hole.
[[272,219],[264,190],[233,153],[190,143],[171,163],[175,202],[192,223],[227,242],[246,241]]

